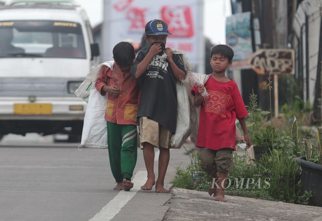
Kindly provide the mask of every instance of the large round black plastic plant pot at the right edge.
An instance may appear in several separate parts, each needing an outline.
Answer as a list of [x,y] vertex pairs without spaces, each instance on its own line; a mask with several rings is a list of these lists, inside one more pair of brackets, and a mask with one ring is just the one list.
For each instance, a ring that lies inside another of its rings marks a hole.
[[311,204],[322,207],[322,165],[311,163],[305,157],[298,157],[296,162],[301,165],[301,194],[312,190]]

